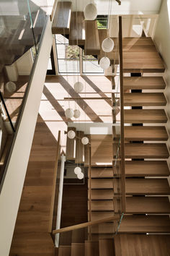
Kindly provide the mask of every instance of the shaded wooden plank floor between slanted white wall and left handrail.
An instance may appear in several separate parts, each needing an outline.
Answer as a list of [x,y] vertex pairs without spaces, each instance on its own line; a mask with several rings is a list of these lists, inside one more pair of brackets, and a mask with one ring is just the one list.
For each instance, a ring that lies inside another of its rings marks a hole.
[[[45,136],[44,136],[45,135]],[[56,140],[38,117],[10,256],[53,256],[48,234]]]

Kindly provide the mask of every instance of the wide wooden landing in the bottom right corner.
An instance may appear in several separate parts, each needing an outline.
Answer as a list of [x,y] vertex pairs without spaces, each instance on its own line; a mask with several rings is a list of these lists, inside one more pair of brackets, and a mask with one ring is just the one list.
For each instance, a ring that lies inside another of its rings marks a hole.
[[115,256],[170,255],[167,234],[117,234],[114,236]]

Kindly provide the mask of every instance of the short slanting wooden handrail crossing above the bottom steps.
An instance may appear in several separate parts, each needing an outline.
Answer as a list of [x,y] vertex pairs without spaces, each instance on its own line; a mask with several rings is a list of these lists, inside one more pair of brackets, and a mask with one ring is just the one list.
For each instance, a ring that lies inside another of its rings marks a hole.
[[112,216],[109,218],[102,218],[97,221],[89,221],[89,222],[85,222],[85,223],[81,223],[81,224],[77,224],[77,225],[73,225],[73,226],[67,226],[66,228],[63,228],[63,229],[55,229],[55,230],[53,230],[53,234],[73,231],[76,229],[84,229],[88,226],[97,225],[97,224],[109,222],[109,221],[120,221],[120,216]]

